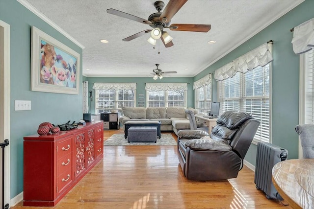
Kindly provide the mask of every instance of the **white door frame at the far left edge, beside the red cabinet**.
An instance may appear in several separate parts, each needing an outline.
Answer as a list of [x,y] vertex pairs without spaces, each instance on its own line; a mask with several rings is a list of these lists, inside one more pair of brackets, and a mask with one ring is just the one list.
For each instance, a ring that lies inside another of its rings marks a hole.
[[[1,110],[3,111],[3,134],[4,139],[10,140],[10,25],[0,20],[0,26],[3,27],[3,81],[0,82],[3,88],[3,93],[0,92]],[[6,146],[4,152],[4,205],[9,204],[10,207],[10,144]],[[0,200],[1,201],[1,200]]]

